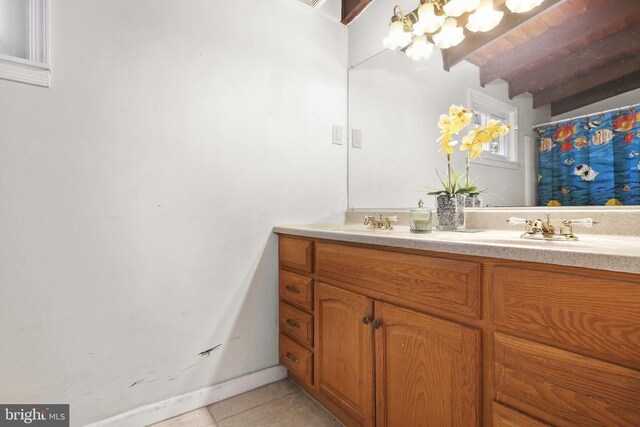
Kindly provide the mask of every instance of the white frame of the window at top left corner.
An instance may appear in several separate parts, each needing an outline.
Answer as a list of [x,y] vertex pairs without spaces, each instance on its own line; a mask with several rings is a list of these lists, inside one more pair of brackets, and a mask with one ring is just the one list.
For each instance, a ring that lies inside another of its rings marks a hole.
[[50,87],[49,2],[29,1],[29,59],[0,54],[0,79]]

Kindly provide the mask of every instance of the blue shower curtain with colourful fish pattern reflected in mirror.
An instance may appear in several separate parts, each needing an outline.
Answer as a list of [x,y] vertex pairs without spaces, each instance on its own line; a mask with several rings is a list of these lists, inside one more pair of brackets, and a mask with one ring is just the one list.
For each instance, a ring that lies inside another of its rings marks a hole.
[[534,132],[538,205],[640,204],[640,105]]

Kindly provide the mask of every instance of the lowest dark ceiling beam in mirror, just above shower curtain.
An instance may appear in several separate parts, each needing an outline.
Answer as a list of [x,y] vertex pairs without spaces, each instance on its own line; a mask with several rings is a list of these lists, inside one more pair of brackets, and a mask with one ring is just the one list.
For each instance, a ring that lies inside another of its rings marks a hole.
[[551,115],[568,113],[612,96],[640,88],[640,71],[551,103]]

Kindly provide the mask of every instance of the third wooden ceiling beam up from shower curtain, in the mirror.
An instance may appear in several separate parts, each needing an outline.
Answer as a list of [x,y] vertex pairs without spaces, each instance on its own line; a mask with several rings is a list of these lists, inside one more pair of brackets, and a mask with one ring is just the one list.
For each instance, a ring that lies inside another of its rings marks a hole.
[[638,52],[640,24],[635,24],[535,70],[505,76],[509,81],[509,98],[525,92],[539,92],[560,83],[567,76],[586,73]]

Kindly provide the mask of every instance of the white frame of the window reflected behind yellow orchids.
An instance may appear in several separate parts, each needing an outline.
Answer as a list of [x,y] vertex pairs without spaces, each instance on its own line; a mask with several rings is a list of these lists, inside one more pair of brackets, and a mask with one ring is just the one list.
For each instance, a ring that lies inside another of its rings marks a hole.
[[518,168],[518,108],[495,99],[475,89],[469,89],[469,108],[474,111],[495,114],[507,118],[506,125],[511,127],[511,131],[506,135],[507,155],[482,152],[482,157],[471,160],[485,166],[493,166],[507,169]]

